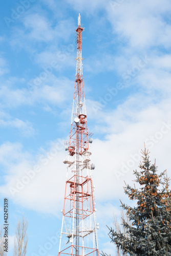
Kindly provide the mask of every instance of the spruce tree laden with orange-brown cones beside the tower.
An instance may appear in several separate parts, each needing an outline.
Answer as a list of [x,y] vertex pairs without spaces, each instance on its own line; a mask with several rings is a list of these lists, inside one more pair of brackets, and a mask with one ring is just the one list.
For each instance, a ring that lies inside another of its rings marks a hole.
[[171,255],[171,193],[166,170],[157,174],[157,167],[149,161],[146,149],[142,151],[140,171],[134,171],[139,188],[126,185],[125,194],[136,200],[137,206],[121,203],[131,221],[122,219],[126,233],[110,228],[111,242],[126,255]]

